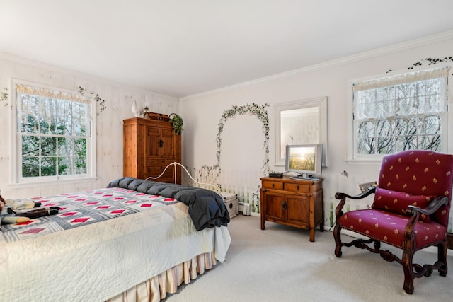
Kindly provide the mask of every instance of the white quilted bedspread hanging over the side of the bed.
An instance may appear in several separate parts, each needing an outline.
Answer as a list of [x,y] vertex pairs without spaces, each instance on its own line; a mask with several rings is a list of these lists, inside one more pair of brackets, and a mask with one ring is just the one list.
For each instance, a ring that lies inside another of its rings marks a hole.
[[0,245],[1,301],[105,301],[202,252],[225,260],[225,226],[196,231],[183,203]]

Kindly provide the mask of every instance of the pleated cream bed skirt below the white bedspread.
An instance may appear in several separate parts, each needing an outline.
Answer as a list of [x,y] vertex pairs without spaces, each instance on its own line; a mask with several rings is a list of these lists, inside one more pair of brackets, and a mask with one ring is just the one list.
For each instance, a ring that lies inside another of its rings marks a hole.
[[214,265],[217,265],[214,252],[205,252],[123,291],[106,302],[158,302],[166,298],[167,294],[176,293],[178,286],[183,282],[189,284],[198,274],[203,274],[206,269],[212,269]]

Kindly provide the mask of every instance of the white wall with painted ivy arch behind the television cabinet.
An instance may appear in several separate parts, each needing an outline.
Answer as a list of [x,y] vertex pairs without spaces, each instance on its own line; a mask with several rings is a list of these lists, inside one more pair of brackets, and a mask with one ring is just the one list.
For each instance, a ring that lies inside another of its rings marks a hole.
[[[268,115],[270,119],[270,168],[283,170],[284,167],[275,167],[275,124],[274,108],[279,103],[287,103],[296,100],[309,98],[328,97],[328,167],[323,169],[323,189],[326,219],[331,215],[333,198],[338,191],[346,190],[350,194],[359,192],[358,183],[377,180],[379,165],[350,165],[346,163],[347,158],[347,111],[348,108],[348,80],[358,79],[376,74],[385,74],[392,69],[394,71],[407,69],[415,62],[427,57],[444,58],[453,55],[452,37],[443,37],[442,42],[426,44],[423,46],[395,45],[386,50],[369,52],[356,57],[345,58],[343,61],[330,62],[312,68],[301,70],[280,79],[250,83],[236,88],[212,91],[200,95],[193,95],[183,98],[180,103],[180,111],[185,121],[185,135],[183,136],[183,163],[194,170],[199,170],[202,165],[214,165],[216,163],[215,153],[217,152],[216,136],[217,124],[225,110],[232,105],[245,105],[247,103],[268,103]],[[422,44],[422,41],[419,42]],[[452,65],[452,62],[449,63]],[[452,73],[452,72],[451,72]],[[451,77],[451,76],[450,76]],[[452,79],[450,79],[451,81]],[[235,120],[231,120],[231,127],[234,127]],[[230,126],[228,126],[230,127]],[[226,127],[225,127],[226,128]],[[237,132],[242,132],[238,134]],[[237,132],[222,134],[224,141],[229,144],[222,145],[223,153],[237,153],[237,145],[241,141],[248,140],[248,145],[258,146],[257,149],[250,147],[243,149],[244,156],[256,156],[263,158],[261,146],[263,135],[256,130],[242,126]],[[238,136],[241,139],[225,137],[227,135]],[[449,135],[452,137],[452,134]],[[236,143],[235,143],[236,142]],[[222,159],[223,161],[223,159]],[[221,163],[222,165],[222,163]],[[256,169],[259,170],[258,164]],[[233,170],[241,170],[240,165],[230,167]],[[342,173],[346,171],[348,177]],[[222,180],[222,178],[221,178]],[[221,184],[222,185],[222,184]],[[362,204],[352,204],[351,207],[363,207],[369,200]],[[326,225],[329,222],[326,221]]]

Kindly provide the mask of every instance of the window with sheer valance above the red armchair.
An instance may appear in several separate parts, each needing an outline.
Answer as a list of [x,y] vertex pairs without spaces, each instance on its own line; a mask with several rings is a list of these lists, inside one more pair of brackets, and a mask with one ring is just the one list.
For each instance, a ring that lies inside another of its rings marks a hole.
[[448,69],[352,83],[353,158],[447,151]]

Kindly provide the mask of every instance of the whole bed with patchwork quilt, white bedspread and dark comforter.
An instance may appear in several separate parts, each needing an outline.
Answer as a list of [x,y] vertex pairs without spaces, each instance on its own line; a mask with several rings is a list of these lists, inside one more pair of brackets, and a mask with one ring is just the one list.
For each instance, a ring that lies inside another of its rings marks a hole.
[[34,200],[59,214],[1,226],[2,301],[159,301],[224,262],[231,242],[207,189],[118,178]]

